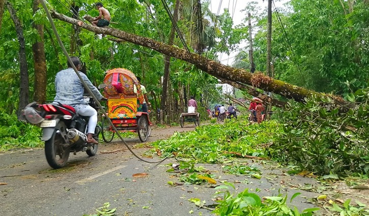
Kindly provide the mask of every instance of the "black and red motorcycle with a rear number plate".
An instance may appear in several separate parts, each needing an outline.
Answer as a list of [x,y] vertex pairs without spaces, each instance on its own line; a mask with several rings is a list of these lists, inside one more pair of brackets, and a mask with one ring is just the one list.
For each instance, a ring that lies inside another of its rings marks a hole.
[[[106,85],[99,85],[99,89]],[[91,97],[85,101],[97,111],[99,107]],[[23,114],[33,125],[42,128],[42,141],[45,141],[45,156],[50,167],[64,167],[69,159],[69,153],[76,155],[78,151],[86,151],[88,156],[95,156],[98,144],[87,143],[89,116],[78,115],[74,108],[61,103],[27,105]],[[93,138],[98,141],[101,127],[96,126]]]

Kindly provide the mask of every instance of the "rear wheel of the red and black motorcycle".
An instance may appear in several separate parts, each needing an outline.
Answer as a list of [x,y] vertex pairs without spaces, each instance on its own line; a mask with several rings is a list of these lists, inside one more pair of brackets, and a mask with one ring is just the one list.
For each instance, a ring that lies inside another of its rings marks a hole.
[[50,167],[59,169],[64,167],[69,159],[70,149],[63,147],[64,140],[60,130],[65,130],[63,121],[56,125],[54,132],[49,140],[45,141],[45,156]]

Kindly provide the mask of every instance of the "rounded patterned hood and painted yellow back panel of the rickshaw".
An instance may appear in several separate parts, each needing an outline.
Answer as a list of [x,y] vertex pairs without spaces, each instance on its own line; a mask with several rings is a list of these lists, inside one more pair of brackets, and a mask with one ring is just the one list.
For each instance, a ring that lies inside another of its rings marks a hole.
[[109,118],[136,118],[136,112],[141,111],[144,102],[136,76],[127,69],[116,68],[107,71],[104,83]]

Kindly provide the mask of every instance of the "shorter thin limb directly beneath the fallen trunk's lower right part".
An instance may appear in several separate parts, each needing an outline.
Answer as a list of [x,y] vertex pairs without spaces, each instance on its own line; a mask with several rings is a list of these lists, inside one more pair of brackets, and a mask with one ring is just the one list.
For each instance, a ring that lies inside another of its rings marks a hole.
[[242,84],[240,82],[226,80],[226,79],[220,79],[220,80],[223,83],[227,83],[227,84],[232,85],[233,87],[236,87],[238,89],[247,91],[248,94],[252,95],[253,97],[260,98],[266,104],[269,104],[269,105],[272,105],[272,106],[275,106],[275,107],[279,107],[279,108],[284,108],[287,105],[286,102],[279,101],[277,99],[271,98],[268,95],[265,95],[262,92],[259,92],[259,91],[257,91],[256,89],[254,89],[250,86],[247,86],[246,84]]

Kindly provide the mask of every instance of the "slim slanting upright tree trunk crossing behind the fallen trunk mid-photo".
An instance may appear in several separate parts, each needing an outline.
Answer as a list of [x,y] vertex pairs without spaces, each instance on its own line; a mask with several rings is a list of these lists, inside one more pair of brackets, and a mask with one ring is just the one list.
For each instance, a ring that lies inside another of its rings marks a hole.
[[[174,8],[174,12],[173,12],[173,19],[174,22],[177,23],[178,20],[178,8],[179,8],[179,3],[181,1],[177,0],[176,1],[176,5]],[[174,36],[175,36],[175,32],[176,32],[176,28],[174,27],[174,24],[172,24],[172,29],[171,29],[171,34],[169,35],[169,41],[168,41],[168,45],[172,46],[174,44]],[[165,61],[164,61],[164,78],[163,78],[163,86],[162,86],[162,94],[161,94],[161,100],[160,100],[160,109],[161,110],[165,110],[165,104],[168,104],[167,101],[167,94],[168,94],[168,80],[169,80],[169,70],[170,70],[170,66],[171,66],[171,56],[170,55],[165,55]],[[164,112],[160,112],[160,124],[164,123],[164,116],[163,116]]]

